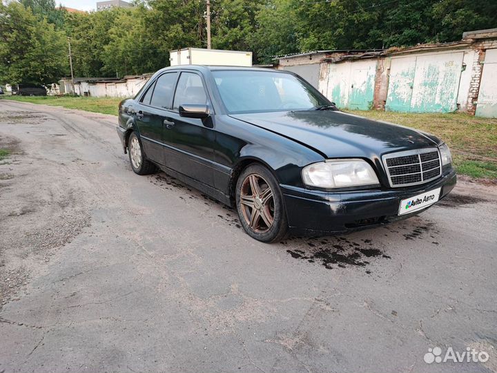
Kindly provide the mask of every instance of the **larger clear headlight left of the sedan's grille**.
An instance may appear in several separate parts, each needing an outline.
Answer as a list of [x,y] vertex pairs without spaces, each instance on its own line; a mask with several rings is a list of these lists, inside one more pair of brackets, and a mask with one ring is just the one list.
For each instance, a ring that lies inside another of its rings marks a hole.
[[327,160],[302,169],[302,180],[309,187],[347,188],[379,184],[376,173],[363,160]]

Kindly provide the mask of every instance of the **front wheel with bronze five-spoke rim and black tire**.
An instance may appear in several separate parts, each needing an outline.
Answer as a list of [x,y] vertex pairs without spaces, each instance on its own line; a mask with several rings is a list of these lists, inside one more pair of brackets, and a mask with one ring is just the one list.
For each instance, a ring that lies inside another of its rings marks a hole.
[[273,174],[260,164],[241,173],[236,184],[238,218],[246,233],[262,242],[282,240],[288,220],[280,186]]

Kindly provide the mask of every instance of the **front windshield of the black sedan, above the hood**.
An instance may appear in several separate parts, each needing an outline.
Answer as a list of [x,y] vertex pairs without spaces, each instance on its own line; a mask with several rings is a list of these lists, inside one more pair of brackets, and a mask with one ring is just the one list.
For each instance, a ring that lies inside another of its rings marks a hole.
[[331,104],[308,83],[275,71],[213,71],[230,114],[309,110]]

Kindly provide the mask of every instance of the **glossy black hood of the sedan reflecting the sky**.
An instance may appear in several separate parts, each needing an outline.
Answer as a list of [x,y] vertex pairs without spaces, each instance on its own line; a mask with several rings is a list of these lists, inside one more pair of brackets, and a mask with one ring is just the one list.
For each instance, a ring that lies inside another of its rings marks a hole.
[[341,111],[294,111],[231,115],[304,144],[324,157],[380,157],[392,151],[436,146],[438,139],[397,124]]

